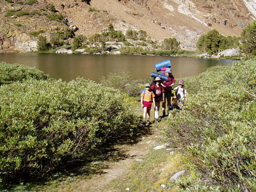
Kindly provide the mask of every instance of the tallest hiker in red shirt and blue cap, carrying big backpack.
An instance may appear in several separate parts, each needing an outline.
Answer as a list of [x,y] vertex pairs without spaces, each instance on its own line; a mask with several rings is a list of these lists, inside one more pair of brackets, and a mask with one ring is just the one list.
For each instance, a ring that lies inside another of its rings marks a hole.
[[169,106],[171,105],[172,86],[175,83],[175,79],[172,75],[172,69],[166,68],[165,75],[168,76],[168,79],[167,81],[163,82],[164,96],[165,96],[162,104],[163,116],[165,116],[166,102],[167,102],[167,108],[169,108]]

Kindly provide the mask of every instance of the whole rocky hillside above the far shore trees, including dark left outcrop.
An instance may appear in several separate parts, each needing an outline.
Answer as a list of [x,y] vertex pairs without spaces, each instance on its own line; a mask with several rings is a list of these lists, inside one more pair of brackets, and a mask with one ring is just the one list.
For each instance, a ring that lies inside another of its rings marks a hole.
[[124,33],[147,31],[159,42],[177,38],[182,49],[195,50],[199,36],[212,29],[239,36],[256,19],[256,1],[1,0],[0,19],[0,52],[35,51],[37,36],[49,40],[52,33],[71,42],[74,35],[89,37],[109,24]]

